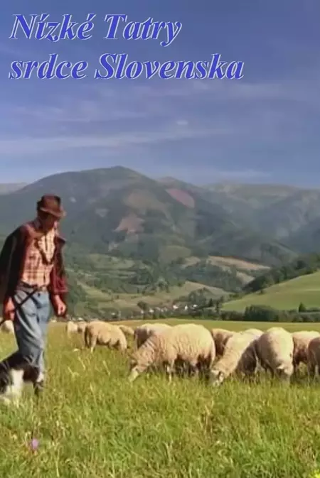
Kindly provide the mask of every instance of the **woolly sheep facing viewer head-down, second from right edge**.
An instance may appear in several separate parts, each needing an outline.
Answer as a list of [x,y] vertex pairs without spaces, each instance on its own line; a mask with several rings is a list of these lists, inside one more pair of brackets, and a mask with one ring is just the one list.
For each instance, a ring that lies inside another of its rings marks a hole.
[[293,374],[294,341],[282,327],[272,327],[262,334],[255,344],[257,357],[262,367],[272,374],[290,381]]

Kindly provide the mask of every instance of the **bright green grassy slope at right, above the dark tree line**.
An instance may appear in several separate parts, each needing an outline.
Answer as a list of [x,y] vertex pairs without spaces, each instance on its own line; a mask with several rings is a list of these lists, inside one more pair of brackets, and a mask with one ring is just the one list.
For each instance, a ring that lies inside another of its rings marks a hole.
[[225,303],[224,310],[245,310],[248,305],[271,305],[279,310],[297,309],[299,303],[307,308],[320,307],[320,271],[299,276],[265,289],[265,293],[252,293],[239,300]]

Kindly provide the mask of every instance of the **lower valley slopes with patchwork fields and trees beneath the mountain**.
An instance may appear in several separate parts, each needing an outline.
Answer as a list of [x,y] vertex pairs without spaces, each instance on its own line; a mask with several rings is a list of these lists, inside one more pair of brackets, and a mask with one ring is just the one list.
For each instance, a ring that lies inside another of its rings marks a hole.
[[161,265],[102,254],[81,256],[73,248],[67,249],[66,259],[78,315],[85,310],[95,315],[122,310],[130,315],[139,311],[140,301],[150,307],[171,307],[174,302],[195,303],[202,297],[228,298],[252,278],[248,272],[255,276],[265,270],[265,266],[232,258],[203,261],[193,257],[181,264]]

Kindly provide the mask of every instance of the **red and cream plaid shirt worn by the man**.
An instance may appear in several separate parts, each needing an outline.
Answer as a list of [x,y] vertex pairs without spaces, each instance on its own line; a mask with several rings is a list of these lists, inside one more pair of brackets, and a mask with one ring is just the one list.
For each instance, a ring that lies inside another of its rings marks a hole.
[[[30,225],[36,229],[39,228],[37,220],[31,222]],[[28,284],[28,286],[38,286],[38,288],[49,286],[55,252],[54,239],[55,229],[52,229],[47,234],[43,234],[41,239],[32,242],[26,252],[21,282]]]

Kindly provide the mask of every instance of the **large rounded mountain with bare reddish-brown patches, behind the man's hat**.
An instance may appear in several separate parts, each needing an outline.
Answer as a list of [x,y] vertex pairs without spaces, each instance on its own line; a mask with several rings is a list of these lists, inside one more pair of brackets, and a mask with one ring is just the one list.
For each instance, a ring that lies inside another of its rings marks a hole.
[[89,252],[158,261],[171,249],[171,260],[232,255],[271,266],[295,256],[232,214],[220,192],[120,166],[51,175],[0,196],[0,234],[30,217],[46,192],[63,197],[68,218],[62,231]]

